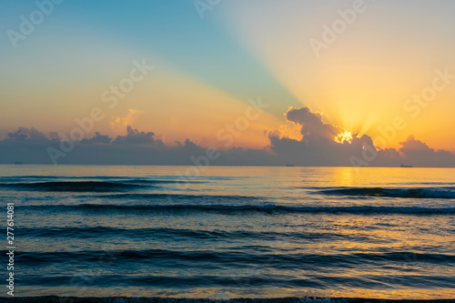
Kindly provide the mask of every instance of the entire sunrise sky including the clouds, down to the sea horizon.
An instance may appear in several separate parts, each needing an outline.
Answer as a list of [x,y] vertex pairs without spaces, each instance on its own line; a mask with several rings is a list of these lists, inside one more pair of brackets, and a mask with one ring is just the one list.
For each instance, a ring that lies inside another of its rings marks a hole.
[[0,162],[453,167],[454,9],[2,1]]

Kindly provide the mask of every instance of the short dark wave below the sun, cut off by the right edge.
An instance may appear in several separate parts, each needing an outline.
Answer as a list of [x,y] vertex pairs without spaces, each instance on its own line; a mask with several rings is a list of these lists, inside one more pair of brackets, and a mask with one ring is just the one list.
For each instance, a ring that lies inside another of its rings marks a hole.
[[453,187],[440,188],[383,188],[383,187],[342,187],[318,191],[319,194],[331,196],[357,197],[407,197],[407,198],[443,198],[454,199]]

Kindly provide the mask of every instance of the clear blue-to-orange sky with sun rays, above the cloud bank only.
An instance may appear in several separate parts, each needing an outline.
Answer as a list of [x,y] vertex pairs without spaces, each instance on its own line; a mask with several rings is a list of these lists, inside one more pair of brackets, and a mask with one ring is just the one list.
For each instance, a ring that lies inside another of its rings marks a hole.
[[[132,126],[168,146],[186,138],[222,146],[218,130],[245,115],[248,99],[260,98],[268,107],[234,146],[268,146],[265,131],[277,129],[298,139],[284,115],[308,106],[325,123],[367,134],[383,148],[415,136],[455,153],[454,1],[52,4],[27,35],[21,15],[30,20],[35,2],[0,5],[0,139],[19,126],[69,133],[75,118],[99,107],[106,117],[87,137],[124,136]],[[345,28],[324,42],[325,25],[343,25],[343,14]],[[319,51],[316,40],[325,45]],[[109,108],[103,93],[143,60],[154,68]],[[379,142],[379,129],[397,117],[401,129]]]

